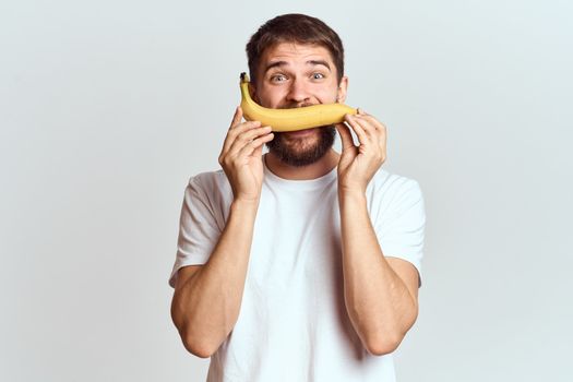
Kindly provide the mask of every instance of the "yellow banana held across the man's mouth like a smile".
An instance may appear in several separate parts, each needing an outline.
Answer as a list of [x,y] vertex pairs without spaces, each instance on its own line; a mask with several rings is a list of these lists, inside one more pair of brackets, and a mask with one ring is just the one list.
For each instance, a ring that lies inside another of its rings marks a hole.
[[344,104],[321,104],[294,109],[270,109],[258,105],[249,94],[249,76],[241,73],[241,109],[248,121],[260,121],[273,131],[297,131],[344,121],[344,116],[356,115]]

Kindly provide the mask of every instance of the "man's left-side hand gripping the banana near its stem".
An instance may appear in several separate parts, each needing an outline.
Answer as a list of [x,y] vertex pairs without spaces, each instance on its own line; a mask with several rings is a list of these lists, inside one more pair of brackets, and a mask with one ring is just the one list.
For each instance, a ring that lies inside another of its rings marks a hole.
[[237,107],[219,155],[235,201],[259,202],[263,183],[263,145],[273,140],[271,127],[259,121],[241,122],[242,109]]

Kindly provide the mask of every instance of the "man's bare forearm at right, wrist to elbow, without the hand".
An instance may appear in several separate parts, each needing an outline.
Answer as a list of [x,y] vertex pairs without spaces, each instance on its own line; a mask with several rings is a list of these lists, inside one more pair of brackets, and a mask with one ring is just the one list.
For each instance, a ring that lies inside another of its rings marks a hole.
[[414,324],[417,305],[380,249],[366,195],[342,193],[339,205],[348,315],[365,347],[390,353]]

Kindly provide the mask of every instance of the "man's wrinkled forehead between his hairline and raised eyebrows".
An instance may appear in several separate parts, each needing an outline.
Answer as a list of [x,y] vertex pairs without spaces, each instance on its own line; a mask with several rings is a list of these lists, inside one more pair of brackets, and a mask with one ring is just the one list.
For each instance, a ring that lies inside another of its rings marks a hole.
[[261,65],[273,61],[286,61],[291,63],[307,62],[309,60],[324,60],[334,67],[333,59],[329,49],[315,44],[298,44],[298,43],[278,43],[270,46],[263,51],[261,56]]

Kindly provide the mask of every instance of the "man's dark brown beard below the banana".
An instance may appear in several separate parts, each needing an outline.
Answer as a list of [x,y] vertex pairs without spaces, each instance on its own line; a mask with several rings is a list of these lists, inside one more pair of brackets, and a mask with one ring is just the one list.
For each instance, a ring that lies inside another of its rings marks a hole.
[[283,163],[295,166],[308,166],[321,159],[334,145],[336,129],[333,126],[323,126],[319,129],[317,142],[309,143],[305,139],[290,140],[285,132],[275,132],[271,142],[266,143],[268,151]]

